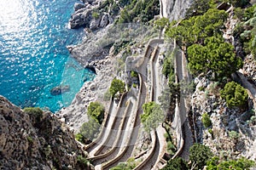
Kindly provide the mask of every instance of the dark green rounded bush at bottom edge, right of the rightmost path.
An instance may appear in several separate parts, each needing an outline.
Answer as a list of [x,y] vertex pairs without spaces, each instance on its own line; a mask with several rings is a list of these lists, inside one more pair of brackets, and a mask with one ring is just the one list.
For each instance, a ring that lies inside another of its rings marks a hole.
[[189,149],[189,161],[195,165],[195,169],[203,169],[212,156],[210,148],[203,144],[193,144]]

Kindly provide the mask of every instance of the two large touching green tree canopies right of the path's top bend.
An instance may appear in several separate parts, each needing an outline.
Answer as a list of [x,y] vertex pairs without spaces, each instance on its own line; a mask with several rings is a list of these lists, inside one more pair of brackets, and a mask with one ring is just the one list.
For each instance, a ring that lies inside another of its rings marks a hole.
[[[197,3],[200,1],[195,1]],[[201,73],[207,75],[210,71],[213,79],[221,80],[241,68],[242,60],[234,53],[234,47],[224,42],[222,37],[227,13],[210,8],[209,3],[205,6],[209,8],[207,11],[206,8],[192,6],[190,10],[196,11],[196,14],[180,22],[173,21],[166,29],[166,37],[175,38],[180,48],[186,50],[189,70],[194,76]]]

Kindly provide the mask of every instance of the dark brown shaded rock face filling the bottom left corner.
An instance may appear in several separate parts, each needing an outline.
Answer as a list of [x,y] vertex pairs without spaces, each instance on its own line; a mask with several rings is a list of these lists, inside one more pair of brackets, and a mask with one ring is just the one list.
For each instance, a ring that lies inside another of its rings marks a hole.
[[0,96],[0,169],[84,169],[84,152],[52,113],[38,122]]

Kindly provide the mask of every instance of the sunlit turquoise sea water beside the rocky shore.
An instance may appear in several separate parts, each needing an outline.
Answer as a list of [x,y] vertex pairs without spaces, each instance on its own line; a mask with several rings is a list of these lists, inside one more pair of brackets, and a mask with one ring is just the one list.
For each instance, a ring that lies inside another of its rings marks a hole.
[[[77,44],[82,30],[67,21],[77,0],[0,0],[0,94],[20,107],[58,111],[94,74],[70,58],[66,46]],[[50,89],[69,85],[53,96]]]

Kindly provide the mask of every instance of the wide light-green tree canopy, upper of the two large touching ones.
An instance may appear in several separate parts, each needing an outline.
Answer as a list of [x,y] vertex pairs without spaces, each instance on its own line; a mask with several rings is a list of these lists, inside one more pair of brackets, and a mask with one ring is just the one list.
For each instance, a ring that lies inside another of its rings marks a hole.
[[166,37],[175,38],[181,47],[189,47],[195,43],[201,43],[206,37],[221,34],[224,22],[228,14],[224,10],[210,8],[203,15],[193,16],[186,20],[172,21],[166,29]]

